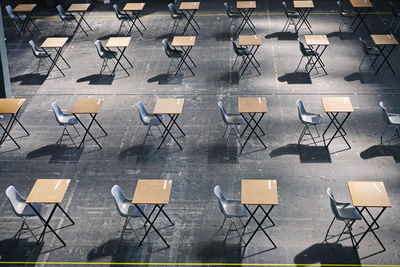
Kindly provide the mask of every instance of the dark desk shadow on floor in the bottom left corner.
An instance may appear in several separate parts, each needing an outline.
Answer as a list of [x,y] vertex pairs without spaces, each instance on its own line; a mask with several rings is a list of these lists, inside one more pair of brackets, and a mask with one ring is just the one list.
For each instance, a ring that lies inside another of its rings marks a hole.
[[43,243],[36,244],[27,239],[4,239],[0,241],[1,262],[36,262],[41,254]]

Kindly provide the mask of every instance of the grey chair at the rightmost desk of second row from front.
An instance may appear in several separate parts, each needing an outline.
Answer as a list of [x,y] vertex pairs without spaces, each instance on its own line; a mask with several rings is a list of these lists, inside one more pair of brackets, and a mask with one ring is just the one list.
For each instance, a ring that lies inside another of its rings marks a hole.
[[301,131],[301,134],[300,134],[299,140],[297,141],[297,144],[301,143],[301,140],[303,140],[304,135],[309,135],[309,136],[311,136],[315,146],[317,146],[317,143],[315,142],[314,136],[312,135],[312,133],[310,131],[310,126],[314,126],[315,131],[318,134],[317,137],[320,137],[318,129],[317,129],[317,125],[322,124],[321,115],[307,112],[305,107],[304,107],[303,101],[301,99],[298,99],[296,101],[296,106],[297,106],[297,113],[298,113],[298,116],[299,116],[299,120],[300,120],[300,122],[302,124],[304,124],[304,128]]

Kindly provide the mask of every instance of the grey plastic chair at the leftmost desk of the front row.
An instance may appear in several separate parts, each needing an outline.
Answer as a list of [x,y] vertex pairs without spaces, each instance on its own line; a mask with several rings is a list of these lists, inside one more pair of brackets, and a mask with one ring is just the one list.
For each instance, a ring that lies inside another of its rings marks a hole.
[[[19,237],[23,233],[23,231],[29,230],[29,232],[32,234],[33,238],[35,238],[35,240],[38,241],[35,234],[33,233],[34,229],[28,225],[28,223],[26,222],[26,218],[27,217],[40,218],[40,217],[36,214],[36,212],[32,209],[32,207],[26,203],[25,198],[23,198],[18,193],[17,189],[15,189],[14,186],[10,185],[6,189],[6,195],[7,195],[8,200],[10,201],[10,204],[12,206],[14,214],[16,216],[22,218],[22,225],[21,225],[20,229],[18,230],[18,232],[14,235],[14,238],[17,237],[17,239],[19,239]],[[32,204],[32,205],[40,215],[43,215],[45,213],[44,204]],[[26,228],[24,226],[26,226]]]

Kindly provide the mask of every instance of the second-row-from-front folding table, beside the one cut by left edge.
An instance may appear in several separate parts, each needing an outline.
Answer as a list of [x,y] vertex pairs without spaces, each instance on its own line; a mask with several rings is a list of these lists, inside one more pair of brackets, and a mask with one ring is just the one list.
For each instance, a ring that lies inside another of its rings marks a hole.
[[[85,134],[83,135],[82,141],[79,144],[78,148],[80,148],[82,145],[85,143],[85,138],[87,135],[90,135],[92,139],[96,142],[96,144],[102,149],[101,145],[99,142],[97,142],[96,138],[90,133],[90,128],[92,127],[93,123],[96,122],[96,124],[100,127],[100,129],[103,131],[103,133],[107,136],[107,132],[103,129],[103,127],[100,125],[100,123],[96,120],[97,114],[99,114],[101,107],[103,106],[104,99],[102,98],[79,98],[76,102],[74,107],[72,108],[71,113],[75,116],[75,118],[78,120],[80,125],[85,129]],[[86,127],[85,124],[82,122],[82,120],[79,118],[78,115],[84,115],[88,114],[92,118],[90,120],[89,125]]]

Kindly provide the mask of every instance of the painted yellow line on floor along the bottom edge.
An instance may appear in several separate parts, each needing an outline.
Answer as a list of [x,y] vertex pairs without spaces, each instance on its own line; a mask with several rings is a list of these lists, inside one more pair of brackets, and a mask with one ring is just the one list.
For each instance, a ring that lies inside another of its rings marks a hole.
[[396,264],[301,264],[301,263],[142,263],[142,262],[25,262],[4,261],[1,264],[43,264],[43,265],[146,265],[146,266],[326,266],[326,267],[400,267]]

